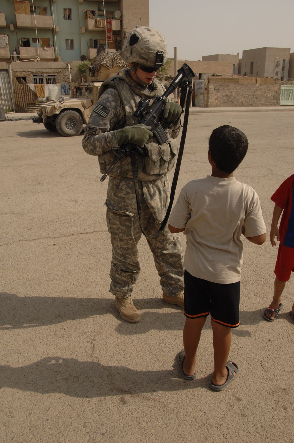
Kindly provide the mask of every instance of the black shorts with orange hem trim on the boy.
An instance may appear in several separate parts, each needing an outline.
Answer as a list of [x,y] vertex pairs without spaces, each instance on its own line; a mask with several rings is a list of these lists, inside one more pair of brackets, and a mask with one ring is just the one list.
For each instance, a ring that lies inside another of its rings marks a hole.
[[221,284],[193,277],[185,269],[185,309],[189,319],[210,317],[230,328],[239,326],[240,281]]

